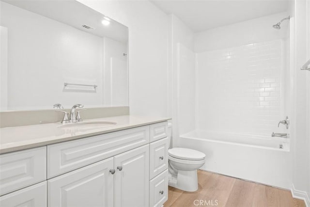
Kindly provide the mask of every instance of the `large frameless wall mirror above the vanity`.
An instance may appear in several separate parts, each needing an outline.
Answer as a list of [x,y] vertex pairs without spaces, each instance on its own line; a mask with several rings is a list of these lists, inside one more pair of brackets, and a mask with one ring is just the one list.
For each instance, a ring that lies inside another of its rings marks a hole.
[[128,106],[126,26],[76,0],[0,8],[0,111]]

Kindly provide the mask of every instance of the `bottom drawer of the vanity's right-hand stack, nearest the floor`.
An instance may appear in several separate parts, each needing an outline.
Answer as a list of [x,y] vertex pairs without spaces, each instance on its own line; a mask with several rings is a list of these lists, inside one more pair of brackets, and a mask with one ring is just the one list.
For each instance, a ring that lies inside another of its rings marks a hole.
[[150,207],[161,207],[168,200],[168,169],[150,180]]

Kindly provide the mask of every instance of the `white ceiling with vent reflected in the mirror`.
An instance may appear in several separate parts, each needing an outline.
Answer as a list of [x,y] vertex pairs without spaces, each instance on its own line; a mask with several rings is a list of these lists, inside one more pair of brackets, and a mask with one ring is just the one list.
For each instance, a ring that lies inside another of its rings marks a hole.
[[[89,32],[100,37],[109,37],[121,42],[128,41],[128,28],[121,23],[110,19],[109,26],[104,26],[101,21],[104,15],[79,3],[76,0],[3,0],[14,6],[26,9],[33,13],[64,24],[75,27],[84,32]],[[94,29],[87,30],[82,25]]]

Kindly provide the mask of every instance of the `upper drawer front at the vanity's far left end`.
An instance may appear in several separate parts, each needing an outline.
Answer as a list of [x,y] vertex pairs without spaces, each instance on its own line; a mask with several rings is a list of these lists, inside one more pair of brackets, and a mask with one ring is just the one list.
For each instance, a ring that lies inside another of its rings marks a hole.
[[46,146],[0,155],[0,195],[47,178]]

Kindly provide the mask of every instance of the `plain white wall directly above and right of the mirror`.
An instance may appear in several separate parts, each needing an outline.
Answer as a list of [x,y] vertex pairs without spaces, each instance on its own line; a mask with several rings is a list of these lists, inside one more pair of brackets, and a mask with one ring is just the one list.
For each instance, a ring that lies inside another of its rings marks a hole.
[[168,115],[168,16],[149,1],[81,3],[129,28],[131,114]]

